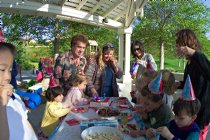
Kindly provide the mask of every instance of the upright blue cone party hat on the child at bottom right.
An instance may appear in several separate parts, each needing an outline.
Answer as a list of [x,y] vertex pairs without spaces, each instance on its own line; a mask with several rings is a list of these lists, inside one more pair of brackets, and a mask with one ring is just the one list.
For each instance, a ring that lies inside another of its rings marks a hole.
[[184,89],[182,90],[182,95],[180,98],[186,101],[193,101],[196,99],[189,75],[185,81]]

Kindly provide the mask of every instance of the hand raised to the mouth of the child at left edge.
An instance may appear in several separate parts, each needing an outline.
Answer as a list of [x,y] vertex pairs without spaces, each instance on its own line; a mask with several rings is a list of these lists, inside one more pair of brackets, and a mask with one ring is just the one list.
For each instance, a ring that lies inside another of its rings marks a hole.
[[0,85],[0,105],[7,105],[9,96],[12,95],[13,87],[10,84]]

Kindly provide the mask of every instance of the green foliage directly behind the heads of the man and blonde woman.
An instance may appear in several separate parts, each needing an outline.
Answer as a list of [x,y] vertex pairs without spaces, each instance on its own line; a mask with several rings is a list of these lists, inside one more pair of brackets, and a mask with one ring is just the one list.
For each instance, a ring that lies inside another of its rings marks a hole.
[[96,40],[99,47],[102,47],[105,43],[110,42],[115,46],[116,54],[118,53],[118,40],[117,32],[114,29],[107,29],[98,26],[77,23],[73,21],[68,22],[68,29],[63,33],[60,41],[59,52],[64,52],[69,50],[71,38],[76,34],[85,34],[88,36],[89,40]]

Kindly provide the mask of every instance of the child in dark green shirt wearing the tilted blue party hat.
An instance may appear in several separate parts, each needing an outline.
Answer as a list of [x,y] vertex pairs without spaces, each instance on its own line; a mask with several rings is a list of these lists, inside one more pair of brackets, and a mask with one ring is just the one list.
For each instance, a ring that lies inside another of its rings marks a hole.
[[[139,98],[140,101],[138,101],[141,104],[141,109],[137,108],[137,112],[142,117],[146,127],[158,128],[167,125],[172,120],[172,111],[162,99],[162,73],[159,73],[155,79],[143,87]],[[139,130],[139,135],[152,133],[153,129],[147,131]],[[130,134],[136,136],[136,132],[135,135],[134,132],[130,132]]]

